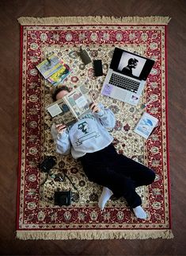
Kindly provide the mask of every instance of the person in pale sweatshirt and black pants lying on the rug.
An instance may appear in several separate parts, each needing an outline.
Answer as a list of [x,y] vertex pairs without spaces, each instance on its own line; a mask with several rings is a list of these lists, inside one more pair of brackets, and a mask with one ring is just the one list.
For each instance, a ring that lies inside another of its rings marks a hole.
[[[62,99],[69,92],[68,87],[59,87],[52,99]],[[135,188],[151,184],[155,178],[154,171],[116,152],[113,138],[108,133],[114,128],[116,119],[109,108],[101,103],[92,103],[90,109],[92,114],[86,114],[70,127],[63,124],[51,126],[56,152],[62,155],[71,152],[74,159],[82,162],[89,180],[104,187],[98,202],[101,210],[114,194],[127,200],[137,218],[146,219],[142,200]]]

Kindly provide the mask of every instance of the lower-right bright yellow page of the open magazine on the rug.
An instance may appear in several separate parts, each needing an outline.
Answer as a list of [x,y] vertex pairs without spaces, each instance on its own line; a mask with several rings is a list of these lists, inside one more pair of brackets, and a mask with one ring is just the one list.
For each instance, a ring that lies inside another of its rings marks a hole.
[[47,80],[53,84],[54,86],[59,85],[66,79],[66,76],[70,75],[71,69],[70,67],[64,63],[64,60],[60,60],[61,68],[53,75],[47,78]]

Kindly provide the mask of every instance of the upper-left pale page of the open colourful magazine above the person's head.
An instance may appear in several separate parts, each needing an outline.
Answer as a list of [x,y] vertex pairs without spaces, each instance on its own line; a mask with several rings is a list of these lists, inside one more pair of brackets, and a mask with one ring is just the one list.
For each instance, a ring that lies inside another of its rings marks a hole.
[[60,68],[62,68],[63,64],[60,63],[59,57],[55,54],[48,56],[46,60],[42,61],[40,64],[36,66],[36,68],[40,71],[40,73],[47,79],[49,76],[53,75]]

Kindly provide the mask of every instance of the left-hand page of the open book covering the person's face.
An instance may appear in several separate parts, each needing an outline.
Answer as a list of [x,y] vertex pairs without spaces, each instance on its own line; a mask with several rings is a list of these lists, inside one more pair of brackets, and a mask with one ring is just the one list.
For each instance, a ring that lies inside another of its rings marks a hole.
[[55,124],[70,126],[77,121],[71,113],[70,108],[66,103],[64,103],[63,99],[59,99],[55,103],[51,103],[51,105],[47,107],[47,111],[51,114],[52,120]]

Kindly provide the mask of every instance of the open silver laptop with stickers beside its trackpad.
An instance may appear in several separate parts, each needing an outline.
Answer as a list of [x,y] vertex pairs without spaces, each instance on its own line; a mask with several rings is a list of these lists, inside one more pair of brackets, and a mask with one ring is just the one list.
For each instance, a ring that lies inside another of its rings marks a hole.
[[154,60],[115,48],[101,94],[137,105]]

